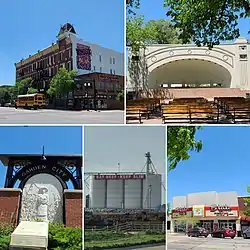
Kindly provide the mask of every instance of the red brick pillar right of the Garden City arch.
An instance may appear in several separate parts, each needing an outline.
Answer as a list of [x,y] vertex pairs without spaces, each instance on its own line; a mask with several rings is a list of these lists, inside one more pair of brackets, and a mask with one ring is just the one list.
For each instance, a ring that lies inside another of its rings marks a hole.
[[65,225],[82,227],[82,190],[65,190]]

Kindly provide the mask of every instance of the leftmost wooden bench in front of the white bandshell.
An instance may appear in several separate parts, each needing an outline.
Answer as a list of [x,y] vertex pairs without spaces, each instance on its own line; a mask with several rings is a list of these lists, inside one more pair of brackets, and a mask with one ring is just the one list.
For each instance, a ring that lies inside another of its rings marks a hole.
[[126,108],[126,121],[138,120],[142,123],[142,118],[149,118],[149,110],[147,106],[127,106]]

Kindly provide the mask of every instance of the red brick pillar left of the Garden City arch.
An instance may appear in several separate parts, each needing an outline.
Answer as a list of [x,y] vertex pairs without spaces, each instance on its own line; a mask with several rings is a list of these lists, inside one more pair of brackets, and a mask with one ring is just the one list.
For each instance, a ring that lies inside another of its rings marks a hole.
[[0,189],[0,222],[17,226],[21,201],[21,189]]

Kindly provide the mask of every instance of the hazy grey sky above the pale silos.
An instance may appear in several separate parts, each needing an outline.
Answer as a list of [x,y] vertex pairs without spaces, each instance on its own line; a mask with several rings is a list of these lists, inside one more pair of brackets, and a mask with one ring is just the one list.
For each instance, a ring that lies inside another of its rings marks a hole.
[[[166,181],[163,126],[85,127],[84,152],[85,173],[115,172],[118,163],[121,172],[141,172],[146,163],[145,153],[150,152],[157,172]],[[88,191],[86,187],[85,194]],[[165,203],[164,193],[162,203]]]

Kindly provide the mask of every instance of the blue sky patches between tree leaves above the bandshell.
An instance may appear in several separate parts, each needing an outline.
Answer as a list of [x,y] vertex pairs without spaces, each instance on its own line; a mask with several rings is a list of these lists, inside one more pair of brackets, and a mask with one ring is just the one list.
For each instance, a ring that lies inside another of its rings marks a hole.
[[[140,11],[139,14],[143,14],[145,21],[149,20],[158,20],[158,19],[167,19],[166,16],[166,8],[163,7],[164,0],[140,0]],[[248,31],[250,26],[250,20],[248,19],[240,19],[239,20],[239,28],[240,35],[248,38]]]

